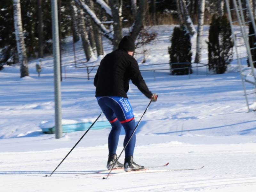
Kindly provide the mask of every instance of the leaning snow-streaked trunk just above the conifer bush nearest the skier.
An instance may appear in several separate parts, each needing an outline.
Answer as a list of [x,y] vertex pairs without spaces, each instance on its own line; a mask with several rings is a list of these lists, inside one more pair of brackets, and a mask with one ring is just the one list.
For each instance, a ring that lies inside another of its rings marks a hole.
[[177,9],[178,12],[180,12],[180,24],[185,24],[188,33],[190,36],[193,36],[196,33],[196,29],[193,25],[193,22],[189,16],[188,9],[186,7],[186,1],[185,0],[176,0]]

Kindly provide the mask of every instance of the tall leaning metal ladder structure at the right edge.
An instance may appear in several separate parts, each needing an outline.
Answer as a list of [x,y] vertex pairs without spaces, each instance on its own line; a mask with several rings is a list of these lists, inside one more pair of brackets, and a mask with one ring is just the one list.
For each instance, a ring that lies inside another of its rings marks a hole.
[[[240,75],[241,75],[241,79],[242,79],[246,105],[248,108],[248,112],[250,112],[252,110],[255,110],[255,109],[250,109],[247,95],[256,93],[256,89],[255,89],[255,87],[256,87],[256,76],[255,76],[256,70],[254,70],[255,68],[253,65],[254,63],[256,63],[256,60],[252,60],[252,54],[251,54],[251,50],[256,49],[256,45],[254,47],[250,47],[249,36],[255,36],[255,38],[256,38],[255,19],[253,18],[250,0],[245,0],[245,4],[242,4],[241,0],[232,0],[232,2],[234,4],[233,9],[230,9],[229,0],[225,0],[225,1],[226,1],[228,19],[229,19],[231,32],[232,32],[232,36],[233,36],[233,41],[234,41],[234,46],[235,46],[236,55],[237,55],[237,63],[239,66]],[[234,21],[232,20],[231,12],[235,12],[234,15],[236,16],[236,19]],[[247,14],[247,15],[245,16],[244,14]],[[234,25],[235,23],[238,23],[238,26],[240,27],[239,31],[237,31],[237,25],[235,28],[235,25]],[[248,28],[248,24],[250,24],[250,23],[252,23],[254,33],[251,35],[248,35],[248,32],[246,32],[246,29]],[[239,44],[239,42],[242,42],[242,44]],[[248,59],[248,62],[250,64],[250,67],[249,67],[250,75],[251,75],[250,78],[248,77],[248,74],[245,73],[245,71],[243,70],[242,65],[241,65],[241,59],[244,59],[245,57],[241,56],[241,53],[239,53],[239,51],[240,51],[239,48],[244,47],[244,46],[246,48],[246,53],[247,53],[246,58]],[[253,93],[247,94],[245,82],[254,85]],[[256,96],[256,94],[255,94],[255,96]]]

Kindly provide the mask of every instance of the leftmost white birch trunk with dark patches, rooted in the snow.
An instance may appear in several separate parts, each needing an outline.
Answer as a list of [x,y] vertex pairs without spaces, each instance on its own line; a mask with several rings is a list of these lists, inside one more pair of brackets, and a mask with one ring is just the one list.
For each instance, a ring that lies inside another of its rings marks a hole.
[[15,29],[15,38],[17,44],[17,51],[20,63],[20,77],[29,76],[28,74],[28,59],[26,53],[26,46],[24,42],[24,35],[21,22],[20,0],[12,0],[13,2],[13,20]]

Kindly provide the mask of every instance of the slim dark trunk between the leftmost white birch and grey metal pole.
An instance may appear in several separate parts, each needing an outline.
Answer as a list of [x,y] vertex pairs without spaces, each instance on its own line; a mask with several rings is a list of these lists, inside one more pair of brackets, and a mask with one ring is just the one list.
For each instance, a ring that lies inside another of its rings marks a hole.
[[43,36],[43,14],[42,14],[42,0],[37,0],[37,16],[38,16],[38,57],[42,58],[44,55],[44,36]]

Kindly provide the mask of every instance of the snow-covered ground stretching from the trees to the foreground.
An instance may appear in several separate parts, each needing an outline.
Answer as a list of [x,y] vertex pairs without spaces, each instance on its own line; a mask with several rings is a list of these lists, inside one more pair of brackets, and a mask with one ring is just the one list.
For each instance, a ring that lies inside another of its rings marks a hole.
[[[174,26],[152,28],[158,33],[141,69],[154,63],[168,63],[167,47]],[[204,27],[204,42],[208,38]],[[195,56],[195,38],[192,38]],[[62,119],[88,120],[100,114],[94,97],[93,78],[87,80],[86,68],[76,69],[72,44],[67,40],[62,52],[66,76],[61,83]],[[104,39],[104,50],[111,51]],[[244,48],[241,47],[241,54]],[[244,50],[245,51],[245,50]],[[138,51],[139,52],[139,51]],[[76,43],[76,60],[83,59],[81,42]],[[140,62],[142,54],[135,55]],[[207,63],[204,43],[202,63]],[[194,58],[193,58],[194,59]],[[256,189],[256,120],[255,112],[247,112],[241,78],[233,61],[222,75],[196,68],[190,76],[170,76],[168,71],[143,71],[142,75],[157,102],[150,105],[137,131],[134,160],[145,167],[190,169],[140,174],[111,175],[102,180],[108,158],[110,128],[90,130],[51,177],[50,174],[84,132],[54,135],[40,131],[40,123],[54,120],[54,88],[52,57],[42,60],[42,73],[36,73],[36,62],[29,62],[30,77],[20,79],[19,67],[0,71],[0,191],[206,191],[254,192]],[[100,58],[97,62],[100,61]],[[86,64],[97,65],[97,62]],[[83,64],[84,65],[84,64]],[[196,66],[196,65],[195,65]],[[246,61],[244,60],[246,67]],[[156,67],[154,67],[156,68]],[[163,65],[161,68],[168,68]],[[64,68],[63,68],[64,71]],[[92,71],[93,76],[95,71]],[[198,74],[198,75],[197,75]],[[63,75],[64,77],[64,75]],[[246,84],[251,92],[254,87]],[[128,92],[136,119],[149,100],[132,84]],[[255,108],[255,96],[249,95]],[[100,117],[105,120],[105,117]],[[118,153],[122,150],[124,132]],[[121,162],[124,155],[121,156]],[[79,175],[88,173],[85,175]]]

